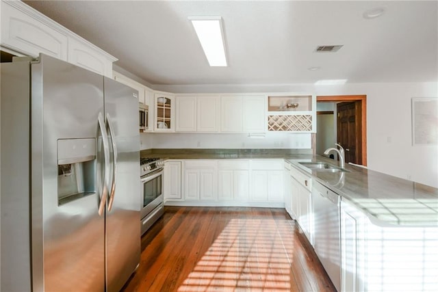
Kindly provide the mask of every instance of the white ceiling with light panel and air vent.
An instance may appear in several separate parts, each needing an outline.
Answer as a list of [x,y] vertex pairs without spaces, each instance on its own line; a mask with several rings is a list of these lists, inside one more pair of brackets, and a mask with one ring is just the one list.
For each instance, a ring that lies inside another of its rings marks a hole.
[[[438,80],[438,1],[25,2],[151,84]],[[222,16],[228,67],[208,66],[188,16]],[[315,53],[329,44],[344,47]]]

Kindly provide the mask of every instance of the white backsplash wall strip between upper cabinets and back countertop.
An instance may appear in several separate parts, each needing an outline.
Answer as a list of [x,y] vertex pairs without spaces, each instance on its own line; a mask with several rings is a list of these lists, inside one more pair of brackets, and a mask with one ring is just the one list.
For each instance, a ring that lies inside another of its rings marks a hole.
[[[248,134],[143,133],[142,149],[149,148],[279,148],[310,149],[309,133],[266,133],[266,137]],[[143,148],[144,147],[144,148]]]

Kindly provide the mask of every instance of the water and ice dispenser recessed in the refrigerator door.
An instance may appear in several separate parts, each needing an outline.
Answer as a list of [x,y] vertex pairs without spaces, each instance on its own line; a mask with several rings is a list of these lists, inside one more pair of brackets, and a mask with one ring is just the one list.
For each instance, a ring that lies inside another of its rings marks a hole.
[[96,192],[96,139],[57,140],[58,205]]

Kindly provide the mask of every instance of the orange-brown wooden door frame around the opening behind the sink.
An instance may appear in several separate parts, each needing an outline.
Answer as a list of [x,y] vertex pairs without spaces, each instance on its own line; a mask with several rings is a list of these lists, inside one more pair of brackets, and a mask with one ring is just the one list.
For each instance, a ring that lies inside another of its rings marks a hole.
[[367,96],[363,95],[319,95],[316,96],[316,102],[344,102],[344,101],[361,101],[361,137],[362,137],[362,164],[367,165]]

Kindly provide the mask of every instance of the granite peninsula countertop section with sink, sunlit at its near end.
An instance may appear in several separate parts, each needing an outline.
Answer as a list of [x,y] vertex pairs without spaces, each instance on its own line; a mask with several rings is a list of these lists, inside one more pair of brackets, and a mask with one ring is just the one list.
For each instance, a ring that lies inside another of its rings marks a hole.
[[299,161],[337,161],[315,156],[312,159],[287,159],[302,172],[339,194],[346,202],[361,209],[381,226],[438,226],[438,189],[413,181],[346,165],[349,172],[309,170]]

